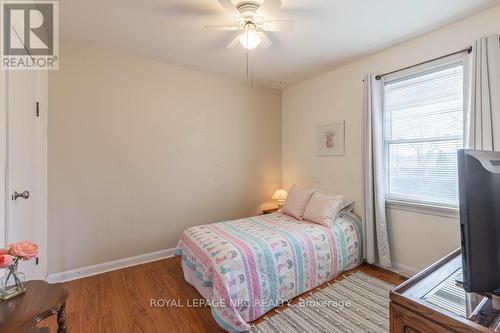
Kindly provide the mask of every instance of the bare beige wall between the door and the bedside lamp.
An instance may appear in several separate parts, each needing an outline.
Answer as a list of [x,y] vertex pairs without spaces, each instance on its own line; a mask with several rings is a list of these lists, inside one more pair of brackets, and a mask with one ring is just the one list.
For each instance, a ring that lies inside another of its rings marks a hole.
[[49,110],[49,273],[173,248],[281,186],[277,90],[63,43]]

